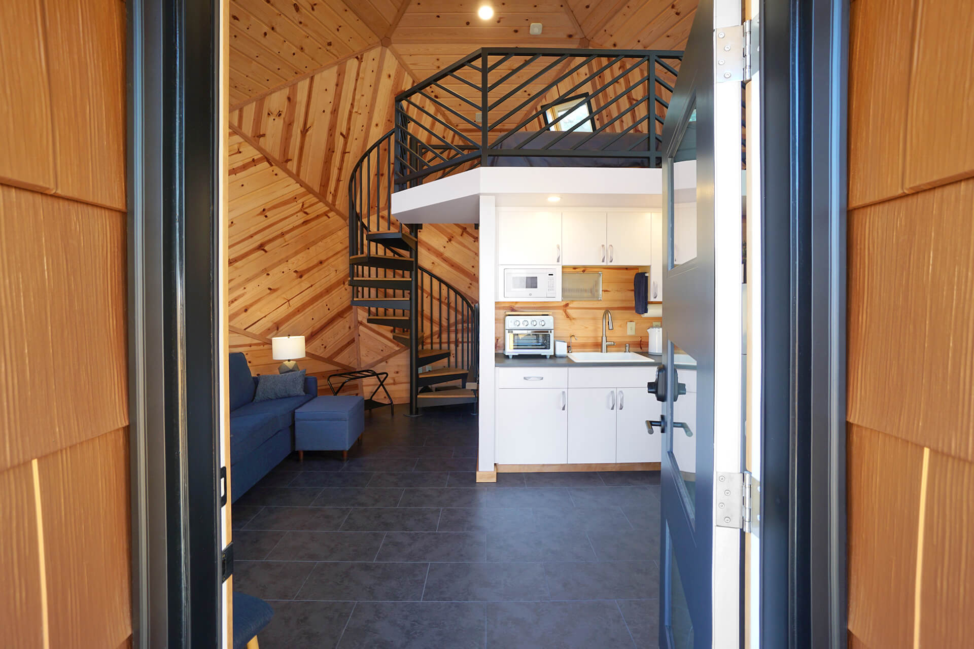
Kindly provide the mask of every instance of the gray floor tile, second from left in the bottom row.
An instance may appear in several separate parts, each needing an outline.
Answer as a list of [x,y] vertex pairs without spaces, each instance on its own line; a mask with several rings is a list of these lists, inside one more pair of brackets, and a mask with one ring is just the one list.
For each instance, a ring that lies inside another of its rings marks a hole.
[[339,649],[482,649],[483,646],[484,604],[435,601],[359,602],[338,644]]

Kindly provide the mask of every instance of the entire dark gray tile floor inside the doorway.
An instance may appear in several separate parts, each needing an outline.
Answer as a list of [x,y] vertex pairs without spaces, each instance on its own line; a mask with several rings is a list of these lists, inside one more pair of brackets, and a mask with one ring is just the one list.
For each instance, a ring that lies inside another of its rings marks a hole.
[[469,407],[366,415],[233,506],[234,587],[275,647],[656,648],[657,473],[474,482]]

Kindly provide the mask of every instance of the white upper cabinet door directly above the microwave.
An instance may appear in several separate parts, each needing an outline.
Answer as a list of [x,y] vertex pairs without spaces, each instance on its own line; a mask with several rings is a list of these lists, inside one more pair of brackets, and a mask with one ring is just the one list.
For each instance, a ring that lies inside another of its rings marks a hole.
[[560,266],[561,212],[499,209],[497,262],[501,266]]

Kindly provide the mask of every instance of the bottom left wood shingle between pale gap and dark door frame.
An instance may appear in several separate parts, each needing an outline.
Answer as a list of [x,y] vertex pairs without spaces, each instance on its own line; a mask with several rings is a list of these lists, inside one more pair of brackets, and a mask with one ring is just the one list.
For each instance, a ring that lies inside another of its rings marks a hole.
[[129,429],[38,461],[52,647],[131,635]]

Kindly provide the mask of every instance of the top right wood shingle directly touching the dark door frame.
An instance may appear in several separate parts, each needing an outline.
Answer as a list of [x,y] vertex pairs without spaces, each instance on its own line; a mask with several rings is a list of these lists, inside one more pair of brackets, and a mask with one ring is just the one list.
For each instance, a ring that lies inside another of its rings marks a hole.
[[903,193],[913,18],[918,0],[859,0],[851,7],[848,203]]

